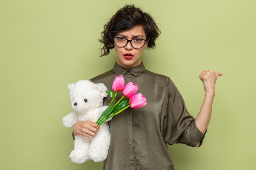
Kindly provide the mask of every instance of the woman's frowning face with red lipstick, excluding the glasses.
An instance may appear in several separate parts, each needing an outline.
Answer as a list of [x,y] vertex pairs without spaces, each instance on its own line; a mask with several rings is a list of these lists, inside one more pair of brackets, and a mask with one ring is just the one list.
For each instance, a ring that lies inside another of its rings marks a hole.
[[[136,38],[146,39],[146,33],[142,26],[135,26],[132,29],[117,33],[115,37],[126,38],[128,40]],[[128,70],[141,64],[140,57],[144,49],[148,46],[148,42],[140,49],[133,48],[130,42],[124,47],[118,47],[115,43],[114,46],[117,53],[117,64]]]

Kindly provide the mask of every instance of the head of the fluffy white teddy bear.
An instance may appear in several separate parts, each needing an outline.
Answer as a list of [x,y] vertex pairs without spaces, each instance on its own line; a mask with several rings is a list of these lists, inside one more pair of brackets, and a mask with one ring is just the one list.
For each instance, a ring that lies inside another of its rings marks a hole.
[[106,86],[103,83],[94,84],[89,80],[79,80],[75,84],[68,84],[70,101],[76,113],[86,113],[103,106],[103,98],[107,97]]

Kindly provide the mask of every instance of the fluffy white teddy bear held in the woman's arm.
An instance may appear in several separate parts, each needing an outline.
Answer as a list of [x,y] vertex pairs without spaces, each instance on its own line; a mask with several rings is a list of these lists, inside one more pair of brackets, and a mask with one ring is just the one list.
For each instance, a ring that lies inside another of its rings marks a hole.
[[[76,121],[96,122],[101,113],[106,110],[107,106],[103,106],[103,98],[107,97],[106,90],[108,89],[104,84],[79,80],[75,84],[68,84],[67,88],[70,90],[74,112],[63,117],[64,126],[72,127]],[[110,129],[105,121],[92,139],[81,135],[75,136],[74,150],[70,153],[71,161],[74,163],[83,163],[90,159],[95,162],[104,161],[108,155],[109,145]]]

